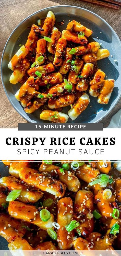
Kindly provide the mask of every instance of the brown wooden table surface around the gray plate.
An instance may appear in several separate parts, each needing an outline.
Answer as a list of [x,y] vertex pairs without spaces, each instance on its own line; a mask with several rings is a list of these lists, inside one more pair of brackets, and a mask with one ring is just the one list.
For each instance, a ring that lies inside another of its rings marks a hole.
[[[5,46],[5,43],[10,36],[14,28],[27,16],[41,10],[42,8],[54,6],[54,5],[75,5],[79,7],[86,8],[99,16],[101,16],[105,21],[107,21],[111,27],[115,30],[119,38],[121,37],[121,8],[113,10],[110,8],[105,8],[102,6],[97,6],[94,4],[84,3],[80,0],[0,0],[1,6],[1,16],[0,16],[0,58]],[[27,121],[22,118],[16,110],[10,104],[0,81],[0,126],[4,127],[16,127],[18,123],[27,123]],[[108,126],[111,117],[121,109],[121,99],[118,101],[114,109],[106,116],[101,122],[103,126]]]

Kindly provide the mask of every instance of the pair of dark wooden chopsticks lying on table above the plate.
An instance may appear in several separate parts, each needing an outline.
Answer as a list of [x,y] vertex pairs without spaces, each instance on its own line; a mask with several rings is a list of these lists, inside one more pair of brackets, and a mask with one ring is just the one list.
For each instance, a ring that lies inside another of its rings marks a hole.
[[104,7],[109,7],[115,10],[119,10],[121,6],[121,2],[117,0],[81,0],[83,2],[91,3],[91,4],[97,4]]

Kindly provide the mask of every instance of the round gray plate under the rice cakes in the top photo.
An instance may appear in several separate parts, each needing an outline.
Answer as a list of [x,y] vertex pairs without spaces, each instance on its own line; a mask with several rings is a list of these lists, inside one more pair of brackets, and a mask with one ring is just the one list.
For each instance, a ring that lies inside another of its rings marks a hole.
[[[43,120],[39,118],[41,112],[40,109],[32,114],[27,114],[14,97],[15,93],[20,88],[20,83],[16,85],[10,84],[9,77],[12,71],[7,66],[11,57],[19,49],[19,44],[21,43],[24,45],[26,43],[30,31],[28,27],[32,24],[37,24],[38,19],[45,18],[49,10],[54,12],[56,17],[55,26],[57,26],[60,31],[66,29],[67,23],[69,22],[68,20],[75,19],[78,22],[81,21],[81,24],[93,30],[92,37],[89,38],[89,41],[99,41],[99,43],[102,43],[101,47],[107,48],[113,56],[113,58],[110,55],[109,58],[98,61],[98,66],[106,73],[107,79],[112,78],[116,81],[109,103],[107,105],[99,104],[97,103],[97,98],[90,96],[90,104],[88,108],[76,119],[76,123],[99,122],[114,108],[121,95],[121,75],[119,74],[119,70],[121,70],[121,63],[119,63],[119,56],[121,56],[121,42],[115,31],[106,21],[95,13],[80,7],[68,5],[48,7],[31,14],[15,28],[8,38],[2,56],[1,74],[6,95],[16,111],[27,121],[31,123],[43,122]],[[68,16],[68,14],[70,14],[70,16]],[[64,20],[64,25],[57,25],[57,22],[62,20]],[[99,37],[99,39],[97,39],[97,37]],[[114,59],[118,62],[115,63]],[[69,109],[70,106],[65,107],[62,112],[67,113]],[[69,118],[68,122],[74,121]]]

